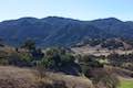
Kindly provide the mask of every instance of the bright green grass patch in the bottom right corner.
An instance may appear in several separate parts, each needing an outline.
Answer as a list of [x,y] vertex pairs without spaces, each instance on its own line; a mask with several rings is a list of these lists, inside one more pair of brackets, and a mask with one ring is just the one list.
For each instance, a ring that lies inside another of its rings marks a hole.
[[133,79],[121,79],[119,88],[133,88]]

